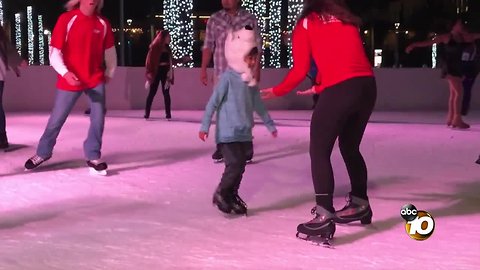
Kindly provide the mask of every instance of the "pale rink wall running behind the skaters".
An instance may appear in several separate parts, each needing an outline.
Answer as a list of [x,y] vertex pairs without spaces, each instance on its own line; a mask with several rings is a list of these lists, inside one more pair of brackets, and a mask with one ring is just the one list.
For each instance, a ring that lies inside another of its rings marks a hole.
[[[288,69],[265,69],[262,71],[260,87],[278,84]],[[210,70],[209,74],[212,74]],[[447,83],[440,78],[440,71],[428,68],[375,69],[378,85],[377,111],[438,111],[446,110],[448,99]],[[144,68],[119,67],[107,88],[107,108],[110,110],[143,109],[147,91],[144,89]],[[211,85],[200,83],[200,69],[175,70],[175,85],[171,89],[173,110],[203,110],[212,92]],[[20,78],[9,72],[3,96],[4,107],[9,112],[48,111],[55,93],[56,74],[49,66],[31,66],[22,70]],[[299,87],[305,89],[306,80]],[[478,84],[475,84],[472,108],[480,106],[476,98]],[[272,110],[310,109],[309,97],[297,97],[295,93],[269,100]],[[82,97],[75,110],[87,107]],[[163,108],[161,91],[157,93],[153,109]]]

